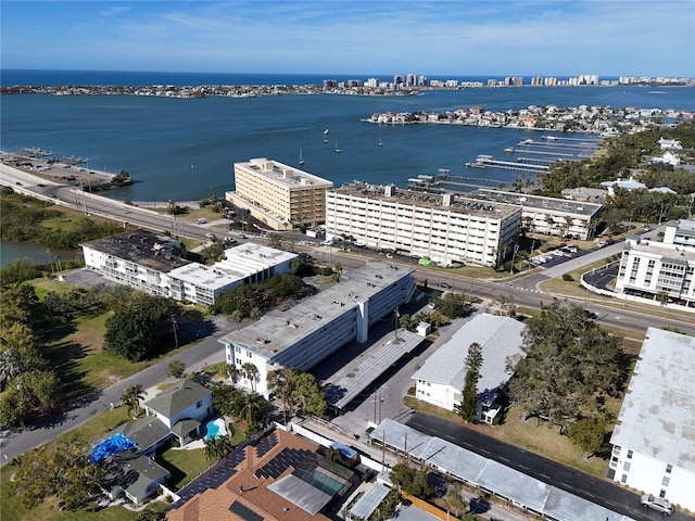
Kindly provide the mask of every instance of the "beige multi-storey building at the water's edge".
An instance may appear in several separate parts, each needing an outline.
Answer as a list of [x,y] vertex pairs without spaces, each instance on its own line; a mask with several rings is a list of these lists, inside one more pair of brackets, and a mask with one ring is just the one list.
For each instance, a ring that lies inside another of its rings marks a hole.
[[327,179],[265,157],[235,163],[235,186],[227,201],[275,230],[323,223],[326,192],[333,188]]

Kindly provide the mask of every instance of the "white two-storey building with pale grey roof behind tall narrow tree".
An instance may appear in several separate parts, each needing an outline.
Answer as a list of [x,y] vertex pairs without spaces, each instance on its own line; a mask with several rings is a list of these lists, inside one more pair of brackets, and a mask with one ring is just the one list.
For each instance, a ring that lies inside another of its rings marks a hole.
[[498,393],[505,392],[511,372],[506,370],[507,357],[521,354],[523,323],[509,317],[483,313],[456,331],[413,374],[415,397],[446,410],[460,405],[466,378],[466,357],[470,344],[482,347],[482,367],[478,382],[478,416],[494,423],[500,412]]

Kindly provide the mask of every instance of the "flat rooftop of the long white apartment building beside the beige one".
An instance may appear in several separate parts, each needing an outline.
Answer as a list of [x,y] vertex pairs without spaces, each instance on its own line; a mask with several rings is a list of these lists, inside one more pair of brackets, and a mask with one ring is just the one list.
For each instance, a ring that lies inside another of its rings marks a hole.
[[[481,201],[463,196],[457,193],[428,193],[416,190],[403,190],[393,186],[369,185],[354,181],[333,190],[336,193],[412,204],[414,206],[454,212],[465,215],[476,215],[488,218],[503,218],[519,209],[506,203]],[[390,194],[389,194],[390,193]]]

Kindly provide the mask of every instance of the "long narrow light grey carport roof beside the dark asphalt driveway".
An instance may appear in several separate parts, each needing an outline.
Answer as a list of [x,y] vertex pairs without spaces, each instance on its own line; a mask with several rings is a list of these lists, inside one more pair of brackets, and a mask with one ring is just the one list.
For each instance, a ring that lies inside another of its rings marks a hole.
[[446,440],[424,434],[410,427],[387,418],[370,436],[412,458],[424,460],[441,472],[482,486],[528,508],[552,516],[558,521],[608,520],[634,521],[569,492],[556,488],[518,470],[479,456]]

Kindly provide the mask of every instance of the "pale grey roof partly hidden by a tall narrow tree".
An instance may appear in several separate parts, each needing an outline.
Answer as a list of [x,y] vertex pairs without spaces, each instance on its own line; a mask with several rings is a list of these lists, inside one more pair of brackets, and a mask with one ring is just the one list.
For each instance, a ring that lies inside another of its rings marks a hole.
[[505,365],[507,357],[521,353],[523,328],[514,318],[486,313],[478,315],[440,346],[413,374],[413,379],[463,389],[468,347],[477,342],[482,346],[483,358],[478,392],[497,389],[511,376],[505,370]]

